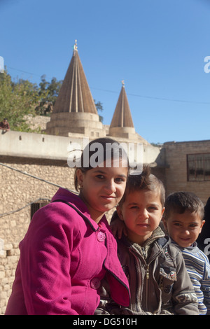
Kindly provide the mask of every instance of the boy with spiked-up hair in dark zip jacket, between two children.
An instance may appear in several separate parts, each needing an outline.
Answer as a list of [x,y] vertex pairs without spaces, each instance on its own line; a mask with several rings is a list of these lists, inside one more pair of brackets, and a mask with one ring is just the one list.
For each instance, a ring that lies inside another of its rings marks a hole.
[[[131,175],[117,208],[127,237],[118,239],[118,257],[130,282],[130,307],[111,302],[109,285],[102,285],[95,314],[199,314],[197,298],[178,248],[160,229],[165,188],[145,167]],[[119,219],[114,221],[119,225]]]

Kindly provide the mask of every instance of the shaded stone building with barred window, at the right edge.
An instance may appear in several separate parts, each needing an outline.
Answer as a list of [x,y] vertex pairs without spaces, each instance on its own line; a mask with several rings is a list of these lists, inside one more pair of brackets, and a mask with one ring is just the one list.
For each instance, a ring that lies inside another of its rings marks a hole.
[[210,141],[167,142],[162,152],[167,194],[194,192],[206,204],[210,197]]

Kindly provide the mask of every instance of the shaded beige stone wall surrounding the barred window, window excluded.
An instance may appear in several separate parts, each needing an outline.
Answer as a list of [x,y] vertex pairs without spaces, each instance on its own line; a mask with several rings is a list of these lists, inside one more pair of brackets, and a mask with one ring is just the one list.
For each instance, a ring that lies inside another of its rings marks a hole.
[[165,143],[167,195],[178,190],[194,192],[204,204],[210,196],[210,181],[188,181],[187,155],[210,153],[210,141]]

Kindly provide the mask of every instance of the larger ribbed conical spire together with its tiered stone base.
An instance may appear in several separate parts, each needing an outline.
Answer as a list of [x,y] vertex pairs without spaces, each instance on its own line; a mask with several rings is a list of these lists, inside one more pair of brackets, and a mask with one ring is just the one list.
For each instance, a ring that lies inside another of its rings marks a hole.
[[106,135],[80,62],[77,42],[45,132],[69,137]]

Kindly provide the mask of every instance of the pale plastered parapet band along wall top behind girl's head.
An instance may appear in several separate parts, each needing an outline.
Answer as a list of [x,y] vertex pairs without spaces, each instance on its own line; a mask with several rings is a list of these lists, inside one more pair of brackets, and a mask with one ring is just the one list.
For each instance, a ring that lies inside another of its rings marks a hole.
[[[78,137],[61,137],[49,134],[34,134],[27,132],[6,132],[0,133],[0,155],[22,157],[22,158],[38,158],[52,160],[67,160],[69,155],[69,146],[73,143],[80,145],[83,149],[82,134],[77,134]],[[92,137],[94,139],[96,137]],[[113,139],[117,139],[113,137]],[[87,137],[86,137],[87,140]],[[118,138],[120,143],[132,142],[127,139]],[[139,141],[134,141],[134,143]],[[144,145],[143,162],[155,162],[160,153],[160,148]],[[164,160],[162,160],[164,162]]]

